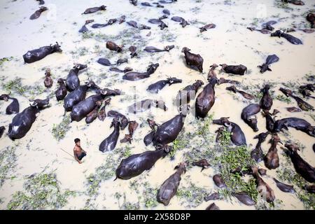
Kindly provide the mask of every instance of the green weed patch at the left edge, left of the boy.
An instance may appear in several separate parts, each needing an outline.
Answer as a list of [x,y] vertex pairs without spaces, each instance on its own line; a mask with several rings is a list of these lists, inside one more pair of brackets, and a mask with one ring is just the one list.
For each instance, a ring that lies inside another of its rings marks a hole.
[[15,147],[7,147],[0,152],[0,187],[6,179],[10,179],[10,171],[16,165],[17,155],[15,155]]

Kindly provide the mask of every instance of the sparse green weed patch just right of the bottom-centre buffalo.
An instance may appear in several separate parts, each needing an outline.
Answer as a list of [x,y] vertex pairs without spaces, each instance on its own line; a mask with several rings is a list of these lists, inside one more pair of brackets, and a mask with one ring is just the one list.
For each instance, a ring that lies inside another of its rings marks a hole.
[[183,201],[185,207],[187,208],[195,208],[198,205],[204,202],[204,195],[207,195],[208,190],[206,188],[200,188],[195,186],[194,183],[190,182],[188,187],[179,187],[177,190],[176,196]]

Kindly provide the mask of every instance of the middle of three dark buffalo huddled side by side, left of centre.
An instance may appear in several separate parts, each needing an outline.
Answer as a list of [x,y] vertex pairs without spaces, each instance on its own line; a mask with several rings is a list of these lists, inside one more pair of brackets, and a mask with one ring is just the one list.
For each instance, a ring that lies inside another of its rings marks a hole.
[[71,111],[74,105],[85,99],[89,88],[99,89],[92,80],[89,80],[85,85],[79,85],[75,90],[66,95],[64,98],[64,114],[66,114],[66,111]]

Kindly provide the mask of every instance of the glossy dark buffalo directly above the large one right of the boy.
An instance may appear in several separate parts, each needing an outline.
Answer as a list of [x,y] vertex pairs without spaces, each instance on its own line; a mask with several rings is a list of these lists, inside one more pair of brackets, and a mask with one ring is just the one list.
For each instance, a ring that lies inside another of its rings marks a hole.
[[180,113],[174,118],[167,120],[167,122],[162,123],[162,125],[159,125],[153,137],[153,145],[164,146],[173,142],[183,128],[183,118],[183,113]]

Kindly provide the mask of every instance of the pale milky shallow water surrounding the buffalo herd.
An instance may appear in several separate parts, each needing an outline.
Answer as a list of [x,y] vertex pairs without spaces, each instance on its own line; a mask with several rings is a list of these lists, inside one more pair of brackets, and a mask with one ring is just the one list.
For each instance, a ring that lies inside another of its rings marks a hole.
[[[251,27],[252,22],[258,21],[258,28],[262,22],[276,20],[278,23],[274,25],[277,28],[289,28],[296,25],[297,28],[308,27],[309,23],[302,17],[302,14],[314,9],[314,1],[304,1],[304,6],[288,5],[290,9],[278,8],[275,1],[195,1],[181,0],[177,3],[167,4],[165,8],[169,9],[174,15],[181,16],[188,20],[191,25],[182,28],[178,22],[170,19],[164,20],[169,26],[164,30],[160,30],[158,25],[147,22],[148,19],[158,18],[162,15],[162,8],[132,6],[127,0],[118,1],[102,1],[107,6],[106,11],[94,13],[90,15],[81,15],[85,8],[99,6],[99,1],[45,1],[45,6],[49,8],[37,20],[29,20],[29,16],[38,8],[36,1],[1,1],[0,3],[0,58],[13,57],[10,62],[4,62],[0,68],[1,88],[4,83],[14,78],[22,78],[22,85],[40,85],[43,86],[43,78],[45,68],[49,67],[52,71],[54,84],[50,90],[45,90],[41,94],[27,94],[29,97],[45,98],[51,92],[57,89],[57,78],[65,78],[74,62],[87,64],[87,69],[83,70],[80,75],[81,83],[87,78],[91,78],[101,87],[117,88],[123,91],[123,94],[111,97],[111,104],[106,107],[106,111],[111,109],[120,111],[127,115],[130,120],[137,120],[139,127],[134,133],[134,141],[132,141],[131,153],[141,153],[148,150],[154,150],[153,146],[145,146],[143,137],[149,132],[149,127],[145,120],[148,117],[161,124],[178,114],[176,108],[172,105],[174,97],[179,90],[186,85],[194,83],[200,79],[207,83],[207,73],[211,64],[244,64],[248,67],[248,73],[245,76],[228,76],[226,73],[220,73],[216,69],[218,77],[231,78],[239,80],[241,86],[254,86],[257,90],[265,83],[274,83],[272,91],[275,95],[281,94],[279,87],[283,87],[281,83],[294,83],[302,85],[307,83],[304,79],[305,74],[314,74],[315,66],[315,33],[306,34],[302,31],[293,32],[292,35],[300,38],[303,45],[293,45],[284,38],[270,37],[268,34],[261,34],[258,31],[249,31],[246,27]],[[154,1],[152,1],[154,2]],[[99,36],[90,36],[83,38],[78,30],[84,24],[85,20],[94,19],[94,23],[104,23],[111,18],[119,18],[126,15],[126,21],[135,20],[139,24],[145,24],[152,27],[151,36],[146,36],[149,30],[139,31],[123,23],[117,23],[102,29],[92,29],[87,25],[88,29]],[[207,23],[214,23],[215,29],[200,34],[199,27]],[[118,34],[120,36],[118,36]],[[106,36],[105,36],[106,35]],[[118,36],[117,38],[113,38]],[[140,38],[137,38],[140,37]],[[43,45],[49,45],[58,41],[63,50],[62,53],[48,55],[44,59],[32,64],[24,64],[22,55],[27,50],[39,48]],[[114,41],[118,45],[125,45],[122,54],[109,52],[106,49],[106,41]],[[139,58],[130,59],[130,52],[127,50],[130,45],[137,46]],[[148,53],[143,52],[146,45],[152,45],[157,48],[163,48],[165,45],[175,45],[175,48],[169,52]],[[97,47],[98,46],[98,47]],[[199,53],[204,58],[204,73],[200,74],[193,69],[188,68],[183,60],[181,49],[186,46],[191,52]],[[141,52],[140,52],[141,51]],[[270,67],[272,72],[267,71],[263,74],[259,72],[258,65],[265,62],[267,55],[276,54],[280,60]],[[157,71],[150,78],[135,82],[123,80],[123,73],[115,73],[109,71],[109,67],[102,66],[96,61],[99,57],[109,58],[110,61],[116,62],[119,58],[128,58],[128,64],[122,64],[121,69],[130,66],[134,71],[146,71],[146,67],[151,62],[159,63]],[[168,77],[175,76],[181,78],[183,83],[166,86],[158,94],[151,94],[146,88],[151,83]],[[212,107],[209,115],[214,114],[214,118],[223,116],[230,117],[230,120],[237,123],[246,134],[248,145],[255,146],[256,140],[253,137],[265,132],[265,118],[258,114],[258,129],[260,132],[254,133],[241,118],[241,110],[249,104],[255,102],[244,100],[239,94],[231,94],[225,87],[229,85],[216,86],[216,103]],[[201,91],[202,89],[200,89]],[[257,91],[255,90],[255,91]],[[5,92],[4,89],[1,93]],[[92,91],[88,95],[93,94]],[[199,92],[197,93],[199,94]],[[20,102],[20,111],[28,105],[28,99],[18,92],[13,92]],[[132,105],[143,99],[163,99],[168,107],[168,111],[161,109],[151,109],[137,115],[127,113],[127,106]],[[193,106],[195,100],[190,103]],[[307,99],[311,105],[314,99]],[[4,125],[8,130],[8,124],[14,115],[5,115],[5,108],[8,102],[0,102],[1,116],[0,125]],[[314,120],[309,116],[310,112],[289,113],[286,111],[287,106],[297,106],[292,100],[290,104],[274,99],[273,109],[281,111],[278,118],[286,118],[296,116],[304,118],[309,123],[314,124]],[[69,200],[69,203],[63,209],[83,209],[88,196],[85,195],[87,190],[87,176],[93,174],[95,169],[103,165],[106,158],[116,155],[118,148],[123,148],[126,144],[118,144],[116,149],[111,153],[100,153],[98,151],[99,144],[113,131],[109,126],[111,118],[106,118],[104,122],[95,120],[92,124],[86,125],[84,120],[79,123],[73,122],[69,125],[70,129],[66,132],[64,139],[57,141],[52,136],[53,124],[59,124],[63,118],[64,109],[62,102],[57,103],[55,96],[50,99],[50,107],[39,113],[38,118],[26,137],[11,141],[8,136],[0,139],[0,150],[5,150],[8,146],[16,146],[15,153],[18,155],[16,167],[10,170],[10,176],[14,179],[6,179],[0,188],[0,197],[2,203],[1,209],[6,209],[6,205],[12,199],[13,193],[23,190],[25,176],[43,171],[55,172],[62,190],[70,189],[83,193]],[[69,113],[68,113],[69,116]],[[189,114],[186,118],[186,131],[196,131],[195,118],[193,114]],[[218,125],[210,125],[209,133],[214,134],[218,129]],[[127,128],[120,132],[120,138],[127,134]],[[315,154],[311,146],[315,143],[314,138],[309,137],[303,132],[297,132],[290,129],[290,135],[281,133],[281,139],[294,139],[300,141],[305,146],[300,155],[311,165],[315,165]],[[78,165],[76,161],[60,150],[60,148],[72,154],[73,139],[81,139],[81,145],[87,151],[87,157],[83,159],[83,164]],[[267,141],[269,137],[267,138]],[[267,152],[269,144],[265,141],[262,149]],[[193,146],[193,142],[191,143]],[[128,145],[129,146],[129,145]],[[253,148],[252,146],[252,148]],[[278,146],[280,160],[283,161],[281,147]],[[187,149],[189,150],[189,149]],[[144,172],[134,179],[123,181],[116,180],[115,176],[111,179],[102,181],[98,190],[98,195],[93,201],[94,207],[97,209],[120,209],[123,199],[118,200],[115,193],[125,193],[127,201],[138,202],[141,193],[135,193],[130,188],[132,181],[139,183],[141,190],[145,182],[150,183],[152,188],[159,188],[160,185],[171,174],[174,173],[174,167],[183,160],[183,151],[176,153],[175,160],[170,160],[167,156],[162,160],[158,160],[155,166],[148,172]],[[114,165],[117,167],[118,164]],[[260,162],[260,167],[264,167]],[[281,169],[281,167],[279,167]],[[181,186],[195,183],[200,188],[206,188],[209,193],[217,190],[212,181],[212,176],[216,174],[214,169],[205,169],[200,172],[199,167],[193,167],[182,176]],[[267,171],[269,176],[276,176],[275,171]],[[302,202],[293,194],[282,193],[272,178],[263,178],[269,186],[274,190],[276,198],[282,200],[281,209],[304,209]],[[141,204],[141,209],[148,209]],[[211,202],[202,202],[197,207],[190,209],[205,209]],[[240,204],[237,200],[232,201],[218,200],[216,204],[221,209],[255,209]],[[150,208],[149,208],[150,209]],[[165,207],[158,204],[154,209],[186,209],[186,204],[181,202],[179,197],[174,197]]]

